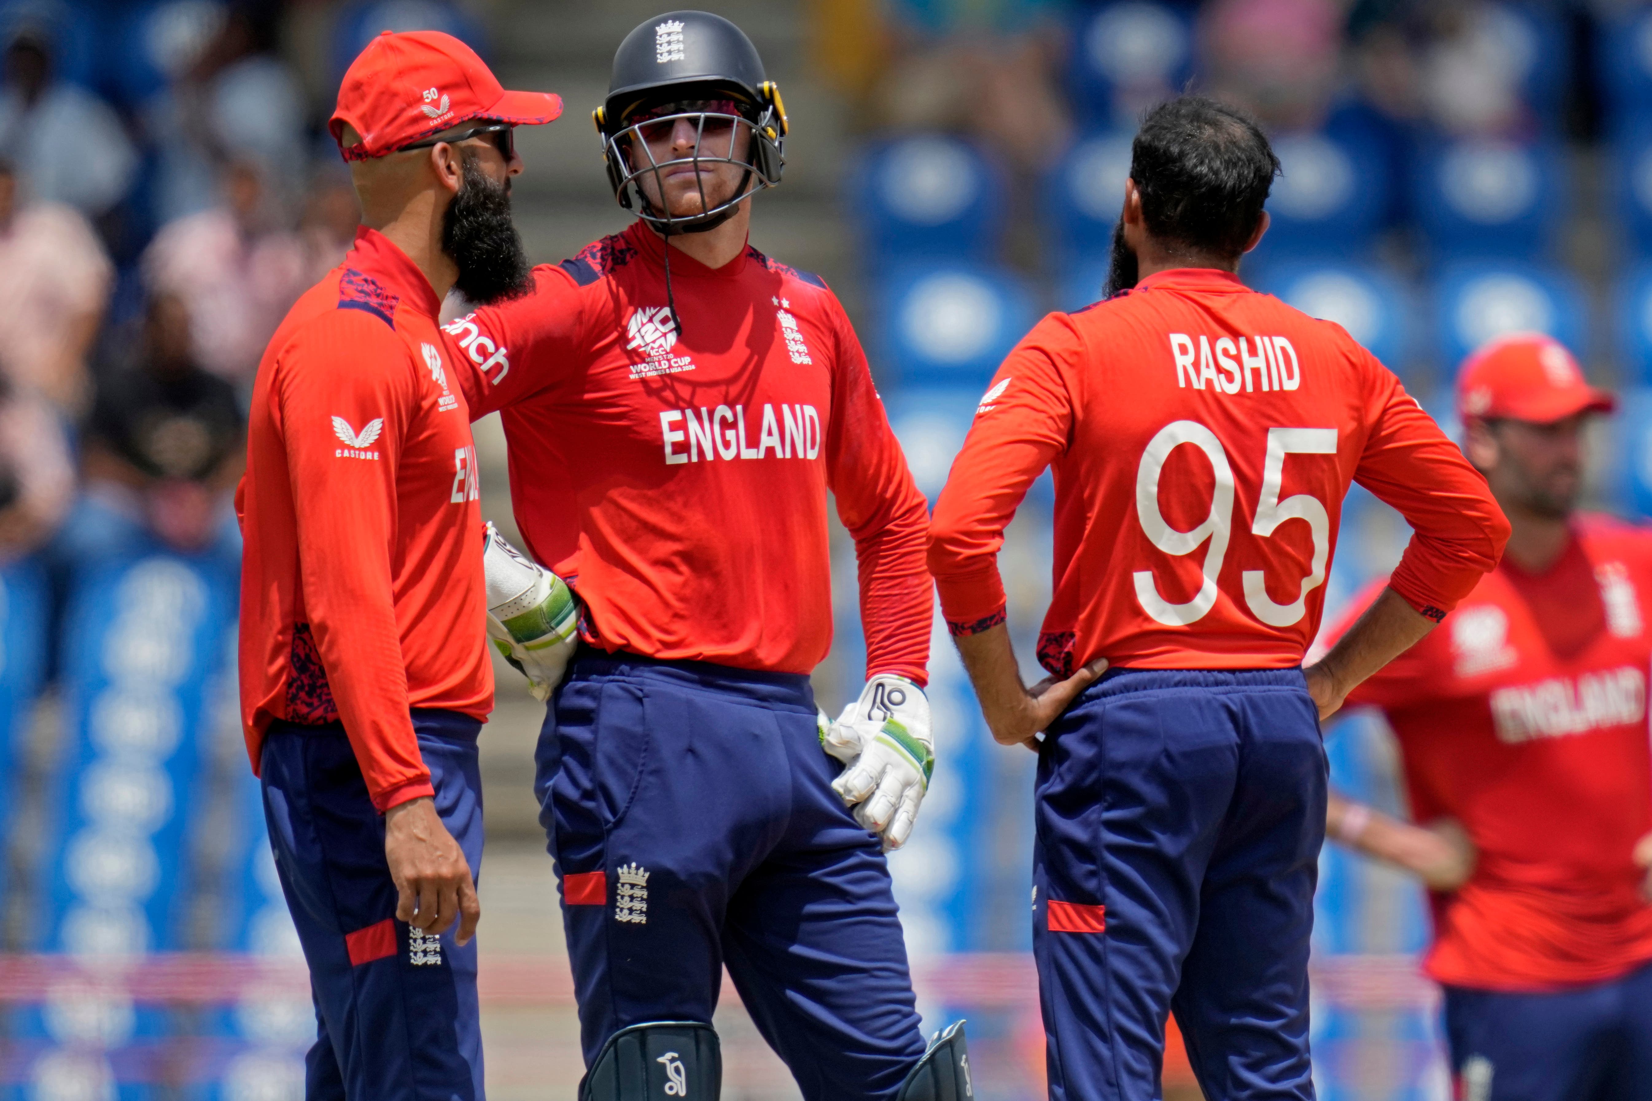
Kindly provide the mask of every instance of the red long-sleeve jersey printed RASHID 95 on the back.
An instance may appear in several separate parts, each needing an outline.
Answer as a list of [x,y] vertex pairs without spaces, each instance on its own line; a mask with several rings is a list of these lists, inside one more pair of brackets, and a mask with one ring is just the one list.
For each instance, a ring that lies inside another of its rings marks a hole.
[[1416,530],[1389,584],[1442,619],[1497,565],[1482,479],[1338,325],[1236,276],[1178,269],[1009,353],[935,505],[930,569],[955,634],[999,622],[1003,530],[1056,479],[1039,660],[1067,673],[1284,669],[1318,631],[1341,500],[1358,480]]

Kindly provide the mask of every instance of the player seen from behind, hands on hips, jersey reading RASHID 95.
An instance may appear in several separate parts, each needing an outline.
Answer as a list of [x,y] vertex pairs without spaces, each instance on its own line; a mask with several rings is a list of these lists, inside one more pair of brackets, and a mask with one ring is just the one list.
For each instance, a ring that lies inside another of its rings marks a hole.
[[[1381,363],[1239,282],[1277,170],[1227,107],[1189,96],[1148,114],[1120,292],[1009,353],[935,507],[930,566],[986,721],[1006,744],[1047,731],[1032,905],[1059,1101],[1158,1096],[1171,1009],[1206,1098],[1313,1096],[1318,720],[1508,536],[1485,480]],[[1049,465],[1052,677],[1029,692],[996,553]],[[1303,672],[1353,480],[1417,535]]]

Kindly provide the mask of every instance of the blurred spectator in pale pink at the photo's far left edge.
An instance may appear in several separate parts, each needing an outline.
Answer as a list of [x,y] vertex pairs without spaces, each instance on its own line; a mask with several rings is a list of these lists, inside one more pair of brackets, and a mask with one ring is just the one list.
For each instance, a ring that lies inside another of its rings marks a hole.
[[86,353],[114,269],[86,220],[61,203],[23,203],[0,160],[0,373],[68,414],[86,399]]

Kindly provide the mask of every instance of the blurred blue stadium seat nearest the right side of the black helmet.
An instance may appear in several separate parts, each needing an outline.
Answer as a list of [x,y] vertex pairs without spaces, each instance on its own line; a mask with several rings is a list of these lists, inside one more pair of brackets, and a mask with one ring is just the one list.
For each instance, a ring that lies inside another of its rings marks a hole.
[[874,271],[912,258],[991,261],[1004,182],[976,147],[943,134],[876,142],[854,183],[862,256]]

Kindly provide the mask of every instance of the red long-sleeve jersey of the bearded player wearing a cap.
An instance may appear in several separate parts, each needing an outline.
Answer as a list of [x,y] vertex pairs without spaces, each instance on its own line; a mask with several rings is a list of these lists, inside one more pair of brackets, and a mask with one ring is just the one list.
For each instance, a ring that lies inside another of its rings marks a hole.
[[258,368],[241,558],[241,721],[344,721],[373,806],[431,794],[410,708],[486,720],[476,449],[439,304],[372,229]]

